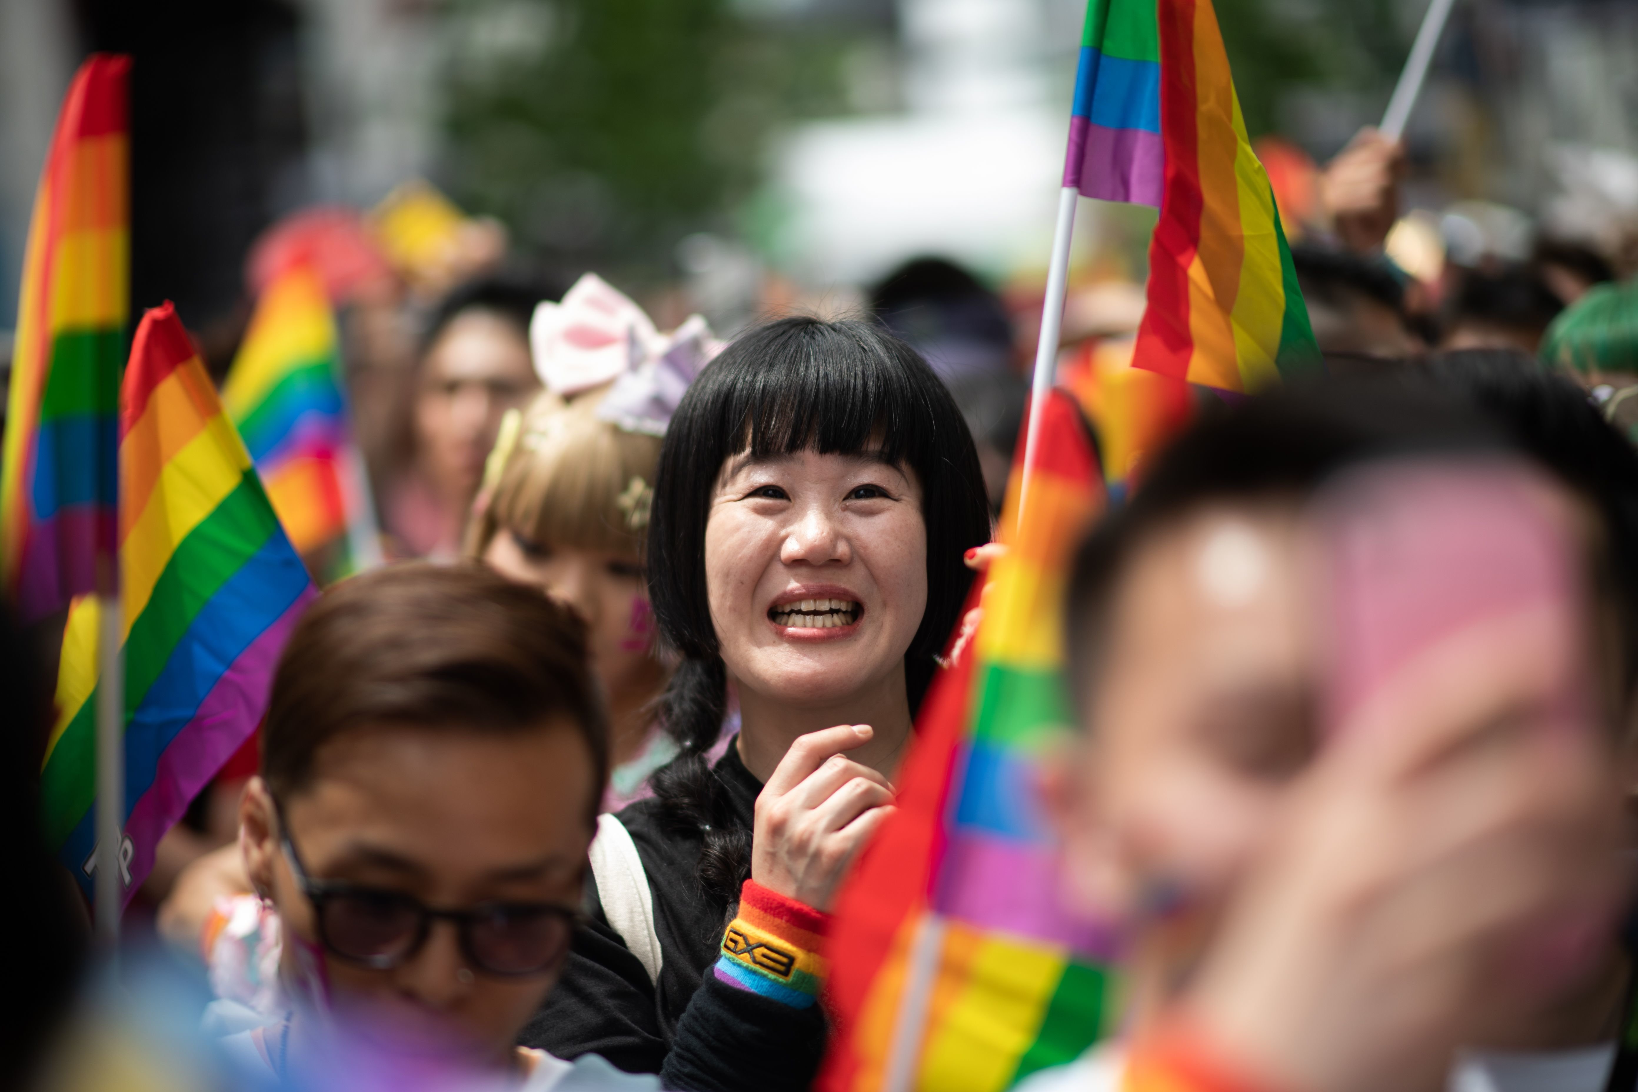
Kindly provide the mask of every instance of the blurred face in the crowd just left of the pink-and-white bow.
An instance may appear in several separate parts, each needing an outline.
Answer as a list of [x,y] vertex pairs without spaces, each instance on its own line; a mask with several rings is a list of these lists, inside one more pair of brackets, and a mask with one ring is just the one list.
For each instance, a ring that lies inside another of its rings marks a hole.
[[472,499],[501,416],[539,386],[511,319],[475,308],[444,326],[421,362],[414,406],[421,465],[442,498],[462,508]]

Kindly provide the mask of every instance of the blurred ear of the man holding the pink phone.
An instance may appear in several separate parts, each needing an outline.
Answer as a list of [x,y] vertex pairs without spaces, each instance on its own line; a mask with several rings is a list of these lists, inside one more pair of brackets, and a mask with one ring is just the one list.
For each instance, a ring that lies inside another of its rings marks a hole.
[[1094,761],[1084,737],[1061,745],[1042,763],[1037,789],[1061,845],[1058,899],[1063,909],[1086,922],[1117,923],[1133,909],[1137,882],[1115,832],[1099,814]]

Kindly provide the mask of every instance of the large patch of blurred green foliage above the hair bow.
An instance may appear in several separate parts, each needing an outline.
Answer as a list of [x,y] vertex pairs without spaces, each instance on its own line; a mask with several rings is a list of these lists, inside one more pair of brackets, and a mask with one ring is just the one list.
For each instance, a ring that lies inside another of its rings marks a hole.
[[729,229],[768,136],[840,113],[857,28],[747,20],[731,0],[454,0],[444,182],[529,252],[639,280]]

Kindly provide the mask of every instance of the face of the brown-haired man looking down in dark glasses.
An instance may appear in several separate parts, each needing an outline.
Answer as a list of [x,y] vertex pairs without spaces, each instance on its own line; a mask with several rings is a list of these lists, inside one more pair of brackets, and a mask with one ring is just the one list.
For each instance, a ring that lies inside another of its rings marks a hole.
[[[565,724],[511,733],[459,725],[349,732],[319,750],[313,781],[282,804],[283,827],[265,786],[252,781],[246,863],[285,928],[283,977],[316,1005],[298,1013],[328,1012],[331,1027],[391,1058],[508,1066],[568,951],[591,840],[591,781],[586,745]],[[314,884],[362,896],[346,912],[329,907],[323,936]],[[406,941],[382,959],[396,963],[390,968],[337,951],[393,933],[406,900],[483,910],[490,932],[477,938],[472,930],[468,951],[455,922],[432,918],[418,948]],[[532,927],[495,928],[508,914]],[[483,966],[541,953],[547,961],[526,972]],[[292,1056],[321,1033],[300,1020]]]

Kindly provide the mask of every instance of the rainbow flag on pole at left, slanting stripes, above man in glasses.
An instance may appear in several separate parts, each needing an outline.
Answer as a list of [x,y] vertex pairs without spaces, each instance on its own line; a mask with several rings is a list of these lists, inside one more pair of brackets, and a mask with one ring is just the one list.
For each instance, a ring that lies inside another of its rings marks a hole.
[[[143,316],[120,390],[124,840],[129,899],[161,835],[249,738],[313,583],[167,303]],[[41,801],[92,894],[97,599],[69,611]]]

